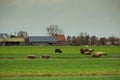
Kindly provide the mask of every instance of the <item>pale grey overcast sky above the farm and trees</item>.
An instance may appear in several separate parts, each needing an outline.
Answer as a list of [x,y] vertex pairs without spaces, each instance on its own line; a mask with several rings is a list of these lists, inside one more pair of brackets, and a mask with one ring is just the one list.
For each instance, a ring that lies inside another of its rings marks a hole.
[[50,25],[66,36],[120,37],[120,0],[0,0],[0,33],[48,36]]

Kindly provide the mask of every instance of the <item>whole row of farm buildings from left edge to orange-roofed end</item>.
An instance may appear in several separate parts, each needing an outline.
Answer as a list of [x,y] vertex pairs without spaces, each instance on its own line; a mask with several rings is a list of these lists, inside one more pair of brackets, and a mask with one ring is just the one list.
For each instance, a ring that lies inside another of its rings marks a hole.
[[9,36],[8,34],[0,34],[0,46],[2,45],[66,45],[64,35],[54,36]]

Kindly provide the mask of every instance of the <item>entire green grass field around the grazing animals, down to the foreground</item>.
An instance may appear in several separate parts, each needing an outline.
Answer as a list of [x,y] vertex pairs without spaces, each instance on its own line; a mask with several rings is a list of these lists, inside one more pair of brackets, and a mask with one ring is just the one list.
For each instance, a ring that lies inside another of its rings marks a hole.
[[[54,49],[62,49],[55,54]],[[90,46],[107,56],[82,55],[84,46],[4,46],[0,47],[0,80],[119,80],[120,46]],[[93,53],[93,54],[94,54]],[[26,59],[28,54],[37,59]],[[41,59],[42,54],[52,58]]]

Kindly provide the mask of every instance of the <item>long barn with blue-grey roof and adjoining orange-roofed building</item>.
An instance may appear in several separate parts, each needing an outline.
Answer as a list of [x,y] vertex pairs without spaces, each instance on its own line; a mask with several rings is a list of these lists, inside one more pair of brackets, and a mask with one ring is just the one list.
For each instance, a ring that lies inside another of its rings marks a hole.
[[29,45],[66,45],[64,35],[57,36],[29,36]]

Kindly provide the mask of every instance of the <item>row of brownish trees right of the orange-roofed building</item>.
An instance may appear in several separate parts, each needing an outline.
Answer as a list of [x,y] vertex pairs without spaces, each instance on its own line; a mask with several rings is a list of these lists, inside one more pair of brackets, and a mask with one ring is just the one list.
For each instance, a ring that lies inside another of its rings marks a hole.
[[79,36],[67,36],[67,44],[68,45],[120,45],[120,38],[115,36],[110,36],[108,38],[97,36],[89,36],[86,33],[81,33]]

